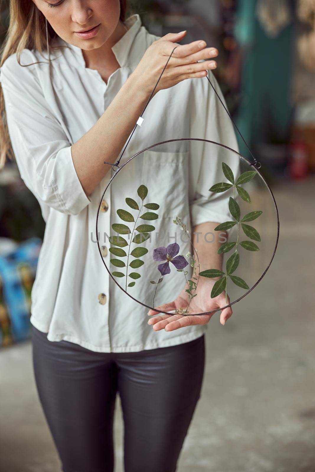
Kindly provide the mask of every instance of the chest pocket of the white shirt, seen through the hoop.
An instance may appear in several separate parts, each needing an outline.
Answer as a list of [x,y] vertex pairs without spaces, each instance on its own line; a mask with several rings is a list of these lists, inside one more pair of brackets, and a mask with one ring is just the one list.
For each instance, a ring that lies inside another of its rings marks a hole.
[[189,214],[189,152],[143,152],[141,182],[148,189],[146,203],[158,203],[159,218],[183,217]]

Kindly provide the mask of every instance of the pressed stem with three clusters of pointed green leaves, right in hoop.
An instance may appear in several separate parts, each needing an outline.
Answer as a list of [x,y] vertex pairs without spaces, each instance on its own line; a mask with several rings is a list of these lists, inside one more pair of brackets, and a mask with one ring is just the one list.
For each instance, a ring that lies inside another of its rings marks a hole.
[[222,254],[222,253],[228,253],[229,251],[235,248],[232,255],[226,261],[226,267],[225,267],[226,272],[223,272],[218,269],[207,269],[200,272],[199,275],[201,277],[208,277],[208,278],[220,277],[213,285],[213,288],[211,291],[211,298],[214,298],[220,295],[223,292],[223,290],[225,290],[225,301],[227,303],[227,283],[228,283],[229,277],[232,280],[232,282],[238,287],[249,289],[245,280],[243,280],[242,278],[238,276],[232,275],[239,265],[238,244],[242,246],[244,249],[246,249],[247,251],[253,251],[253,252],[259,251],[259,247],[253,241],[248,241],[248,240],[239,241],[239,228],[241,227],[245,235],[249,237],[250,239],[253,239],[254,241],[261,241],[258,231],[253,226],[247,225],[246,222],[253,221],[254,219],[258,218],[262,214],[262,211],[251,211],[247,213],[246,215],[244,215],[243,218],[241,219],[240,208],[239,208],[238,202],[236,202],[235,200],[235,189],[236,189],[238,192],[238,195],[242,198],[242,200],[244,200],[244,202],[251,203],[249,194],[243,187],[241,187],[241,185],[246,184],[252,178],[254,178],[255,175],[257,174],[257,171],[248,170],[247,172],[244,172],[243,174],[241,174],[238,177],[238,179],[235,181],[232,170],[225,162],[222,162],[222,170],[223,170],[224,176],[227,178],[227,180],[229,180],[230,184],[226,182],[219,182],[218,184],[215,184],[211,188],[209,188],[209,192],[215,192],[215,193],[226,192],[227,190],[230,190],[231,187],[233,187],[233,198],[230,197],[229,199],[229,210],[234,220],[225,221],[224,223],[221,223],[216,228],[214,228],[214,230],[226,231],[230,228],[233,228],[235,225],[238,225],[237,241],[226,242],[222,244],[217,251],[218,254]]

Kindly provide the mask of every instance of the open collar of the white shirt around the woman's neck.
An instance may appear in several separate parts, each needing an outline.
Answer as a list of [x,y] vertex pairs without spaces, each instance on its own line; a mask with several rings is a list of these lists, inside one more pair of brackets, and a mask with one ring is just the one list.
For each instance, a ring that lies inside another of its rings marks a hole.
[[[130,54],[131,52],[130,50],[134,43],[136,35],[138,34],[142,26],[140,16],[138,14],[135,14],[128,17],[127,20],[125,21],[125,25],[129,28],[128,31],[126,31],[126,33],[119,39],[119,41],[116,42],[111,48],[120,67],[130,67],[132,65],[132,55]],[[145,30],[145,28],[142,27],[142,30]],[[74,46],[73,44],[65,42],[60,37],[59,37],[59,41],[61,43],[67,44],[68,47],[72,51],[74,51],[80,63],[83,65],[83,67],[86,67],[85,59],[83,57],[81,48],[79,48],[78,46]]]

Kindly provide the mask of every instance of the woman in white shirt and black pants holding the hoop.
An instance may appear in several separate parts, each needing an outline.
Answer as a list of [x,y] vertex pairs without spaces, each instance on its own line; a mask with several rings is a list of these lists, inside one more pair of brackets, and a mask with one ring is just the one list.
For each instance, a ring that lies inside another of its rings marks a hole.
[[[117,161],[175,43],[186,34],[159,38],[148,33],[138,15],[127,20],[125,15],[125,0],[11,0],[1,59],[1,107],[6,111],[1,167],[11,143],[21,177],[46,222],[32,290],[33,361],[65,472],[113,470],[117,393],[124,418],[125,471],[176,470],[200,397],[204,329],[212,316],[161,314],[147,323],[147,310],[113,283],[95,244],[96,213],[112,175],[112,166],[104,161]],[[145,122],[130,141],[129,157],[144,143],[186,133],[236,148],[230,120],[206,79],[189,80],[216,67],[215,61],[204,59],[217,51],[205,46],[200,41],[177,44]],[[166,173],[182,157],[167,151],[150,154],[153,178],[159,172],[154,157],[162,159]],[[203,165],[200,160],[200,175]],[[128,177],[128,172],[120,174]],[[196,232],[211,232],[225,216],[221,220],[209,210],[198,183],[196,178],[196,194],[189,200],[191,223]],[[117,185],[113,188],[112,200],[101,204],[101,234],[108,232],[111,206],[118,208],[113,203],[123,193]],[[205,251],[204,241],[194,236],[194,245],[201,270],[209,261],[221,267],[219,242]],[[106,244],[102,256],[109,261]],[[191,305],[192,312],[226,305],[224,293],[210,298],[213,283],[200,281],[199,304]],[[157,308],[165,311],[179,300]],[[230,307],[221,310],[221,324],[231,314]]]

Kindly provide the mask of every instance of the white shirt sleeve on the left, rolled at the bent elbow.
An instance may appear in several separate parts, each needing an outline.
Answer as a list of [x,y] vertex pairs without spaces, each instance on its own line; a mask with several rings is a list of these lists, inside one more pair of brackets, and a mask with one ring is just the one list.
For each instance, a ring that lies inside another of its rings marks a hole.
[[[28,69],[28,70],[27,70]],[[69,215],[90,202],[77,176],[69,143],[31,66],[15,54],[0,67],[7,126],[20,175],[38,200]]]

